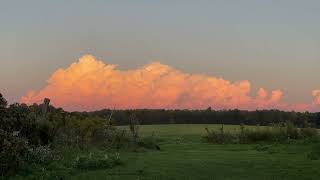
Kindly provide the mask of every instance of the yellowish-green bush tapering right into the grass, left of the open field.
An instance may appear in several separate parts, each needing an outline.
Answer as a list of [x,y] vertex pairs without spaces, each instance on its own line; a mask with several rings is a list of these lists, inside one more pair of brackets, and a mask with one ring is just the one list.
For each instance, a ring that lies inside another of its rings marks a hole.
[[86,149],[95,146],[104,149],[159,149],[153,137],[140,138],[135,131],[116,128],[106,119],[98,117],[76,118],[67,116],[65,127],[60,128],[54,138],[54,146],[76,146]]

